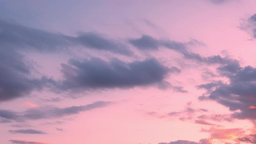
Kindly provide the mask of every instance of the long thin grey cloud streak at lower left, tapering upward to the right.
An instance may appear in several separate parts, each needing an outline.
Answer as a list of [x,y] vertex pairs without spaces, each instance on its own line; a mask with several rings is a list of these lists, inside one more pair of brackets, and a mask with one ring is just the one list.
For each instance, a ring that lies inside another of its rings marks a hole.
[[25,120],[61,118],[67,115],[75,115],[82,111],[89,111],[95,108],[105,107],[110,104],[112,104],[112,102],[96,101],[89,105],[72,106],[67,108],[42,107],[29,109],[23,112],[0,110],[0,118],[5,118],[7,120],[17,122],[22,122]]

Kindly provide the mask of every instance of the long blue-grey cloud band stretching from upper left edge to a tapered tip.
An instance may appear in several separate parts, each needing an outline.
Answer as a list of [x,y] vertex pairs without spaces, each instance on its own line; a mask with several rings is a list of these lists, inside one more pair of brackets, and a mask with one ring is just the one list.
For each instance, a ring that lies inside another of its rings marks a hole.
[[131,55],[128,47],[114,39],[98,33],[80,33],[78,36],[67,36],[8,23],[0,20],[0,48],[34,49],[37,51],[56,51],[69,46],[85,46],[87,48],[106,50],[123,55]]

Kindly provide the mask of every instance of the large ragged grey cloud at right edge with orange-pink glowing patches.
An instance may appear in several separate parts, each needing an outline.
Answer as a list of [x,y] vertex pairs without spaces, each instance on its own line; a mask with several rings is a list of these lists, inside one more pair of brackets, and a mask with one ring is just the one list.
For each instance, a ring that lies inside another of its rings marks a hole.
[[213,82],[199,85],[199,88],[207,89],[207,93],[200,96],[199,99],[217,101],[228,107],[230,111],[240,110],[232,115],[233,118],[255,119],[256,68],[252,66],[241,68],[240,65],[222,68],[221,73],[228,72],[225,76],[230,83]]

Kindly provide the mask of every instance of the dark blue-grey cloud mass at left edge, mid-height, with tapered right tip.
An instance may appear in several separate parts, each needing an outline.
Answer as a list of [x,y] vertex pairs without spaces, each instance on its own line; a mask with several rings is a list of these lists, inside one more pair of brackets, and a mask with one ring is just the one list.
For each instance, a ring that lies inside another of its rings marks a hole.
[[0,46],[0,101],[29,95],[33,90],[55,85],[53,79],[31,78],[33,67],[25,57],[12,49]]

